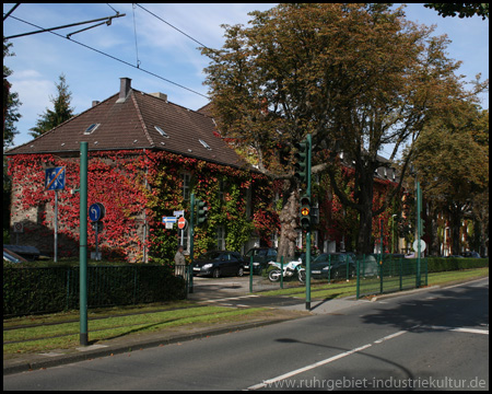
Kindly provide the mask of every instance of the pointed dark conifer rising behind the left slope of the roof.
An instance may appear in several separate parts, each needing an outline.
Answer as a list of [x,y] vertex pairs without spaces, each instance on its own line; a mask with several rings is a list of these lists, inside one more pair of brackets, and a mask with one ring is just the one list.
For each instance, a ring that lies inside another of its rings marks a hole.
[[59,83],[55,83],[55,86],[57,86],[58,96],[50,97],[50,102],[54,104],[54,111],[46,108],[46,112],[43,115],[39,115],[36,126],[30,129],[30,135],[35,138],[42,136],[48,130],[51,130],[58,125],[61,125],[74,115],[73,108],[70,107],[72,93],[69,92],[65,74],[61,74],[59,80]]

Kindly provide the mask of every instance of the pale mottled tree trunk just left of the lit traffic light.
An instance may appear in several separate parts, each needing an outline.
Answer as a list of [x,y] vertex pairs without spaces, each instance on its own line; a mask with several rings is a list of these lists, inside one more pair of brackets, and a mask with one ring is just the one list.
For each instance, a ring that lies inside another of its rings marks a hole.
[[292,187],[289,186],[284,190],[284,195],[288,196],[286,201],[283,205],[280,212],[280,240],[279,240],[279,253],[278,258],[283,256],[294,257],[295,255],[295,240],[297,239],[297,216],[298,216],[298,194]]

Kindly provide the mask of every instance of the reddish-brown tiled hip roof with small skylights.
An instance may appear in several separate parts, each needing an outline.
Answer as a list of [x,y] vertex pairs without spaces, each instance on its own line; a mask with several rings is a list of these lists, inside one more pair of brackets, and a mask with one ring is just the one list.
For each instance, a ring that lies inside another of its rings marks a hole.
[[[211,117],[137,90],[125,102],[118,101],[115,94],[5,154],[79,152],[80,142],[87,141],[90,151],[153,149],[235,167],[246,165],[215,137]],[[94,124],[97,128],[85,135]]]

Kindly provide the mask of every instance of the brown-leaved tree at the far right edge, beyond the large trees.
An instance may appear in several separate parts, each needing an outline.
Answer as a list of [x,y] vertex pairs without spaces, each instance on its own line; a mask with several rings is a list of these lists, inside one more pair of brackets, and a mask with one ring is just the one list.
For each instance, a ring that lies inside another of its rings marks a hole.
[[457,102],[453,112],[430,121],[415,143],[413,164],[423,195],[449,217],[453,254],[460,253],[465,215],[475,208],[488,218],[488,206],[478,206],[489,189],[488,136],[489,112]]

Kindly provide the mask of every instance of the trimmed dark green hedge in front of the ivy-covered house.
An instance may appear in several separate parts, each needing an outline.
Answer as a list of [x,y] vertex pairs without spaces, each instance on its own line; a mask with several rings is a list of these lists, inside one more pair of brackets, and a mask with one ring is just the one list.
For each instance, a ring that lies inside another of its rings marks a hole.
[[[78,267],[3,266],[3,316],[79,309]],[[87,267],[87,308],[165,302],[186,298],[185,280],[167,266]]]

